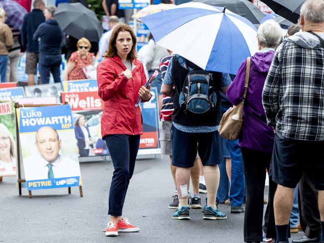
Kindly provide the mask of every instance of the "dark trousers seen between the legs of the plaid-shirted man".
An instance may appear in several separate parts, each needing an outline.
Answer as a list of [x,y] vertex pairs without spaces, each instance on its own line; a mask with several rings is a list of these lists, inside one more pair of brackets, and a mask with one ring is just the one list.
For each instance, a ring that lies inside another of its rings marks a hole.
[[321,217],[318,207],[319,191],[315,189],[312,170],[304,166],[304,174],[299,182],[299,220],[308,238],[321,235]]

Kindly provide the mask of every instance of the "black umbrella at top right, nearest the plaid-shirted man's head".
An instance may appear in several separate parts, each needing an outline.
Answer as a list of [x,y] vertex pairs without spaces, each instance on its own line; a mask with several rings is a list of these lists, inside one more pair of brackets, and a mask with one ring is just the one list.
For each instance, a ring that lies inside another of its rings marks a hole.
[[275,13],[288,19],[293,23],[297,23],[301,6],[305,0],[262,0]]

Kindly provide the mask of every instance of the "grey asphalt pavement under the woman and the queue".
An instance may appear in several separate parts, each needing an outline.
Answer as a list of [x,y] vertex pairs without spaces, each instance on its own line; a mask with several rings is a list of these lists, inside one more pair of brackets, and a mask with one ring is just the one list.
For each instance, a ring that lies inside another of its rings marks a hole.
[[[108,194],[113,173],[111,162],[80,164],[83,194],[78,188],[33,191],[18,196],[15,178],[0,182],[0,243],[243,243],[244,214],[220,210],[228,219],[202,220],[201,210],[190,210],[190,221],[172,220],[167,208],[174,185],[167,157],[138,160],[125,201],[124,216],[140,227],[139,233],[105,237]],[[204,202],[205,195],[201,194]],[[266,198],[266,195],[265,195]],[[293,234],[293,239],[302,237]]]

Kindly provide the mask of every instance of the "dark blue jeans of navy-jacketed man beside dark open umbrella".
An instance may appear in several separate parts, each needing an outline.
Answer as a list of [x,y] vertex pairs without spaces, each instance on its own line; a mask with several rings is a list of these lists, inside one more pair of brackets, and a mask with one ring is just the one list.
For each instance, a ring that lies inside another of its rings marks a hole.
[[61,82],[61,70],[62,63],[61,54],[39,54],[39,74],[42,84],[49,83],[49,75],[52,73],[55,83]]

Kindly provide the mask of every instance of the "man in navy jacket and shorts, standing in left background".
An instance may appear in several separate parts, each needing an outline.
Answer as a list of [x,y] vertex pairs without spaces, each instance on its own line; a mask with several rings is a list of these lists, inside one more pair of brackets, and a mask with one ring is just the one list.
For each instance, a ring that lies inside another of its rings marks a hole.
[[45,21],[43,11],[45,4],[42,0],[34,0],[31,12],[23,17],[21,28],[21,44],[26,53],[26,74],[28,74],[28,85],[34,85],[34,76],[37,74],[37,62],[39,58],[38,41],[32,36],[38,26]]

